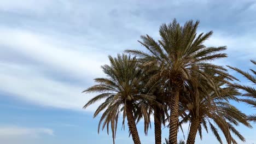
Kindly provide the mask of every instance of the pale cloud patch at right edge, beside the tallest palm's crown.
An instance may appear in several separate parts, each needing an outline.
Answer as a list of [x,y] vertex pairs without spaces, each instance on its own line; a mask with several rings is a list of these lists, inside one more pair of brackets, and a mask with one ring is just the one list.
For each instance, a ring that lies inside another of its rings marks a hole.
[[[230,35],[223,32],[214,32],[213,36],[206,41],[207,46],[227,46],[223,53],[228,54],[228,58],[221,58],[213,61],[218,65],[231,65],[233,67],[249,67],[250,59],[256,58],[256,42],[254,35],[243,33],[241,35]],[[243,63],[243,65],[241,65]],[[230,74],[236,74],[230,70]]]

